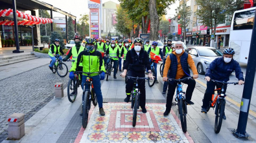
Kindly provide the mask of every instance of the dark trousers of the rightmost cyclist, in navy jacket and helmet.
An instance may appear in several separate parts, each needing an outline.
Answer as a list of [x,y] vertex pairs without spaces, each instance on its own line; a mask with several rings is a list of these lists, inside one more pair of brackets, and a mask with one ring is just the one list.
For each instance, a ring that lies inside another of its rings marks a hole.
[[[218,84],[217,82],[213,82],[213,81],[207,82],[207,88],[204,93],[204,100],[203,100],[202,108],[209,107],[209,102],[211,101],[211,97],[215,93],[215,86],[216,86],[216,89],[222,88],[222,85]],[[227,90],[227,84],[224,84],[224,93],[226,93],[226,90]]]

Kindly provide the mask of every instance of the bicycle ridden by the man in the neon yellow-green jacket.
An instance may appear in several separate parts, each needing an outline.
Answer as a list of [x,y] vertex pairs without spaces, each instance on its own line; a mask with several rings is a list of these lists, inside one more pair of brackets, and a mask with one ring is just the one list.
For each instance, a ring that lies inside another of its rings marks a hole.
[[[77,73],[86,73],[86,72],[78,72]],[[90,78],[91,74],[93,73],[99,73],[99,72],[89,72],[87,74],[86,82],[84,83],[84,90],[83,90],[83,97],[82,97],[82,126],[83,128],[86,128],[88,124],[88,116],[89,116],[89,110],[91,109],[91,101],[93,102],[94,106],[97,106],[97,96],[94,93],[93,89],[93,81]],[[88,85],[90,88],[86,89],[86,85]]]

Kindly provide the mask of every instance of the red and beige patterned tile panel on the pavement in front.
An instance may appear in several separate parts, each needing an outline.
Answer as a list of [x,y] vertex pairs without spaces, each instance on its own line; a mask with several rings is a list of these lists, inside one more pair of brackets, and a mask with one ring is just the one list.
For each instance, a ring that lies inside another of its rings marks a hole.
[[75,142],[193,142],[189,133],[183,133],[180,120],[171,111],[163,117],[165,104],[147,104],[147,113],[137,113],[137,123],[132,126],[130,104],[104,104],[106,116],[99,108],[91,111],[87,128],[81,128]]

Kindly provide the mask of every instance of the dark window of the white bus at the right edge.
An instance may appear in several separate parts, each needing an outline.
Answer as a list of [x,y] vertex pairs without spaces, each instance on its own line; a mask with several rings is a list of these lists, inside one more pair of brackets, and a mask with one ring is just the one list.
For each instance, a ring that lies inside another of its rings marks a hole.
[[253,28],[255,10],[235,14],[233,30],[251,30]]

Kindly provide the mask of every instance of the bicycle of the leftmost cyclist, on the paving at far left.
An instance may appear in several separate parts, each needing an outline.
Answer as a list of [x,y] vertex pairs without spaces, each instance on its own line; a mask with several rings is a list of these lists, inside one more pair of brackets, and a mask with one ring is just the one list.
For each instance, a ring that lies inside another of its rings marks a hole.
[[[67,65],[59,60],[59,57],[61,55],[55,55],[56,57],[56,62],[53,65],[53,69],[52,69],[52,73],[56,73],[60,76],[60,77],[65,77],[67,75]],[[50,61],[51,64],[52,61]]]

